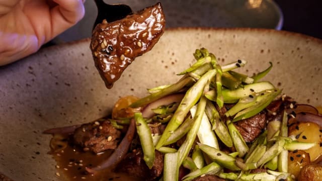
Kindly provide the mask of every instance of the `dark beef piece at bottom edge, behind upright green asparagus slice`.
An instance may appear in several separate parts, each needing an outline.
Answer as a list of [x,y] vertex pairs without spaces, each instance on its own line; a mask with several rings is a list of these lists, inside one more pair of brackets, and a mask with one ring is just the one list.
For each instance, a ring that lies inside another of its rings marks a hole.
[[154,180],[163,172],[163,158],[164,155],[155,150],[153,167],[149,169],[143,160],[142,149],[135,149],[118,164],[116,171],[128,173],[142,180]]

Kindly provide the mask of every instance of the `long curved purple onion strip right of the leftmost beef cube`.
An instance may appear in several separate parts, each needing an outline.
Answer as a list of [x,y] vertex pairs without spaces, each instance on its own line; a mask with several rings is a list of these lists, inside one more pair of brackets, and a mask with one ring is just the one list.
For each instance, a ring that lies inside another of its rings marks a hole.
[[126,155],[131,145],[131,142],[133,140],[134,133],[135,133],[135,121],[134,119],[131,119],[130,126],[124,138],[122,139],[121,143],[117,146],[117,148],[114,150],[114,152],[111,154],[111,156],[107,160],[97,165],[96,167],[93,167],[93,168],[86,167],[86,170],[89,173],[96,173],[97,171],[116,166]]

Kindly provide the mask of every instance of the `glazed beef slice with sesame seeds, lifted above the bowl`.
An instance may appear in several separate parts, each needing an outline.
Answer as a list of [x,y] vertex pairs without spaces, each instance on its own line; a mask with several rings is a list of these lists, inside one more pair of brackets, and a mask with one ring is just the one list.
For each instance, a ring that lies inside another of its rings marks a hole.
[[91,50],[101,77],[108,88],[120,78],[135,57],[149,51],[165,30],[160,3],[122,20],[98,24],[92,34]]

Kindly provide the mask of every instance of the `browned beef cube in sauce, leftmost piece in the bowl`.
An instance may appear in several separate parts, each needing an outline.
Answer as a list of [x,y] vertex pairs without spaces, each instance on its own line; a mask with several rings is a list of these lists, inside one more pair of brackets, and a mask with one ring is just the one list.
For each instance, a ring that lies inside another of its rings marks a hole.
[[107,149],[115,149],[121,132],[115,129],[108,120],[95,121],[83,124],[73,134],[74,143],[90,150],[100,153]]

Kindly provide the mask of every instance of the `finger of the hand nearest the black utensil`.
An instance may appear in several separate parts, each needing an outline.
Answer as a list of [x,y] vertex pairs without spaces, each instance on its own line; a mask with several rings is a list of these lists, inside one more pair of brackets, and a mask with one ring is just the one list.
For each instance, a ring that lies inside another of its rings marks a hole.
[[62,33],[84,17],[82,0],[54,0],[58,6],[51,9],[52,37]]

